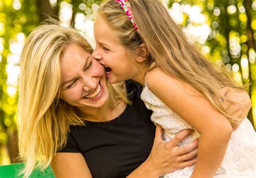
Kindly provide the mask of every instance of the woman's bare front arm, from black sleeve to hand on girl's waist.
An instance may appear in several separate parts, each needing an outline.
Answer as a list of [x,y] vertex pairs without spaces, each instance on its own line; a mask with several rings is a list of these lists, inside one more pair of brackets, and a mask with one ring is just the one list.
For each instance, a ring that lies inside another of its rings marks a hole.
[[[161,127],[157,126],[156,136],[149,158],[128,177],[159,177],[196,163],[198,141],[185,147],[178,143],[191,132],[185,130],[169,142],[164,142]],[[57,153],[51,161],[51,168],[58,178],[92,177],[81,153]]]

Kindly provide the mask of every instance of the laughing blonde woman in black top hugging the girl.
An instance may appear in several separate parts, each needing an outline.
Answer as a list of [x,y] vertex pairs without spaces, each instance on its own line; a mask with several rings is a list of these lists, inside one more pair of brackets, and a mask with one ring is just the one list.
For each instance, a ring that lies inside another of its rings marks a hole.
[[[92,52],[79,32],[58,25],[39,26],[26,39],[18,101],[24,176],[50,163],[56,177],[153,176],[193,165],[197,141],[177,147],[189,132],[164,142],[139,87],[106,83]],[[245,93],[228,95],[250,105]],[[248,109],[240,111],[244,117]]]

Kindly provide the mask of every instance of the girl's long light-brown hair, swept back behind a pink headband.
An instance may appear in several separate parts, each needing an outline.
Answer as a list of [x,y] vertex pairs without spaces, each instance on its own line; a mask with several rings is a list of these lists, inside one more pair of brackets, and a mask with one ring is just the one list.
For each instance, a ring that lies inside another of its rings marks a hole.
[[[219,92],[223,87],[238,90],[244,90],[245,87],[238,86],[224,67],[206,59],[196,45],[188,41],[158,0],[129,0],[129,3],[139,32],[135,30],[121,5],[114,0],[102,3],[97,15],[115,31],[119,42],[126,49],[136,51],[140,44],[146,44],[150,51],[147,59],[149,71],[160,67],[172,77],[193,86],[230,120],[232,126],[236,125],[237,118],[226,114]],[[223,99],[232,102],[226,97]]]

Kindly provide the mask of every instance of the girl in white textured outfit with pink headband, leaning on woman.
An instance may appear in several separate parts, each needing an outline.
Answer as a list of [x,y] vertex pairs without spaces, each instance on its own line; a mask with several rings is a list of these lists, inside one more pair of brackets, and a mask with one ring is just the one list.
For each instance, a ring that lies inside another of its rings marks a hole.
[[105,66],[107,80],[133,79],[145,86],[142,100],[153,111],[151,120],[164,128],[164,139],[186,128],[195,131],[180,145],[200,136],[196,166],[166,176],[255,175],[253,127],[245,119],[232,134],[237,118],[223,104],[232,100],[217,99],[220,88],[242,87],[188,42],[160,2],[106,1],[94,30],[93,57]]

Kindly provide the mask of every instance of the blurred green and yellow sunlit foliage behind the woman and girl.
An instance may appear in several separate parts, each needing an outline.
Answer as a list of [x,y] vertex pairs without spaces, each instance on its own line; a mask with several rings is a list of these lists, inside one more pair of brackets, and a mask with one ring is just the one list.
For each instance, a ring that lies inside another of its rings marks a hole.
[[[48,14],[53,18],[60,18],[60,11],[66,4],[72,5],[73,22],[76,22],[78,13],[83,13],[85,19],[93,20],[94,16],[91,14],[95,10],[93,5],[100,2],[0,0],[0,165],[15,162],[18,156],[16,144],[18,82],[16,80],[19,77],[18,58],[25,37],[42,20],[48,18]],[[185,32],[186,29],[193,28],[197,31],[195,27],[207,24],[210,31],[205,39],[197,39],[192,34],[192,40],[201,47],[210,60],[233,70],[234,77],[240,84],[250,81],[248,93],[252,99],[252,111],[249,117],[251,120],[254,119],[254,128],[256,128],[256,0],[163,0],[163,3],[173,10],[174,16],[180,15],[179,24],[183,26]],[[198,19],[193,20],[193,13],[187,12],[186,8],[195,10]],[[205,20],[199,22],[200,18]],[[86,26],[83,32],[85,31]]]

